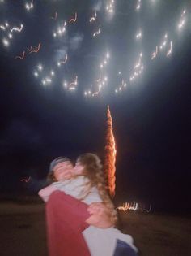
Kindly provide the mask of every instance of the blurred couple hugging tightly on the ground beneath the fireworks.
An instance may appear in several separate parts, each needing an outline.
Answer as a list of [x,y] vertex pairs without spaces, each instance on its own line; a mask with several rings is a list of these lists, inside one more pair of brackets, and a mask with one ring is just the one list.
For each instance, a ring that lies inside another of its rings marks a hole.
[[133,238],[115,224],[100,158],[82,154],[50,163],[49,186],[39,191],[46,202],[49,256],[136,256]]

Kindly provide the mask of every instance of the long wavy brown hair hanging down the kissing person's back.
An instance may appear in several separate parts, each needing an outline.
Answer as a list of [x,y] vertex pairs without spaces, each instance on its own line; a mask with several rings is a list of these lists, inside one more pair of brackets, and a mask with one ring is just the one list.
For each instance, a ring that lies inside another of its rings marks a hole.
[[87,195],[91,193],[91,188],[96,186],[100,197],[104,202],[104,205],[107,206],[108,210],[111,212],[112,223],[116,224],[117,211],[115,210],[115,207],[106,189],[104,171],[100,158],[96,154],[87,153],[80,155],[79,158],[77,158],[77,162],[79,162],[84,167],[83,174],[87,176],[88,180],[90,180],[87,182],[87,189],[85,191],[84,197],[87,197]]

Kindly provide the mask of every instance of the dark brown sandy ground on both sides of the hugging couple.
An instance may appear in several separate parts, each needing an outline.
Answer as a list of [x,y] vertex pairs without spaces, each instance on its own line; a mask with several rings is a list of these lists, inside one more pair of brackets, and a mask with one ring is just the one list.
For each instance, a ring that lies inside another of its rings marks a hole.
[[[140,255],[191,255],[191,219],[188,217],[123,212],[121,219],[123,231],[134,237]],[[0,204],[0,227],[1,256],[48,255],[43,204]]]

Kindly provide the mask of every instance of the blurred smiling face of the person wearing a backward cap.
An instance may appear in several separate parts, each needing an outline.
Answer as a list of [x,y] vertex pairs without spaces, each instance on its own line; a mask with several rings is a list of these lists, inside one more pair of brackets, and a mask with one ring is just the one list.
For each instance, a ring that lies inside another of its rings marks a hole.
[[74,176],[74,167],[70,161],[65,161],[62,163],[57,163],[53,168],[53,174],[57,181],[69,180]]

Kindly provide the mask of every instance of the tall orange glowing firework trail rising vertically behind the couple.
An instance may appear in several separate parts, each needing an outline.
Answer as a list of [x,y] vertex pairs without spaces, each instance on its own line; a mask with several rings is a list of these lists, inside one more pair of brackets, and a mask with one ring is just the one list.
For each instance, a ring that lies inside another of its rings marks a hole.
[[108,184],[108,190],[111,197],[115,196],[115,188],[116,188],[115,164],[116,164],[116,144],[115,144],[115,137],[113,136],[113,131],[112,131],[112,115],[108,106],[104,172],[105,172],[106,181]]

